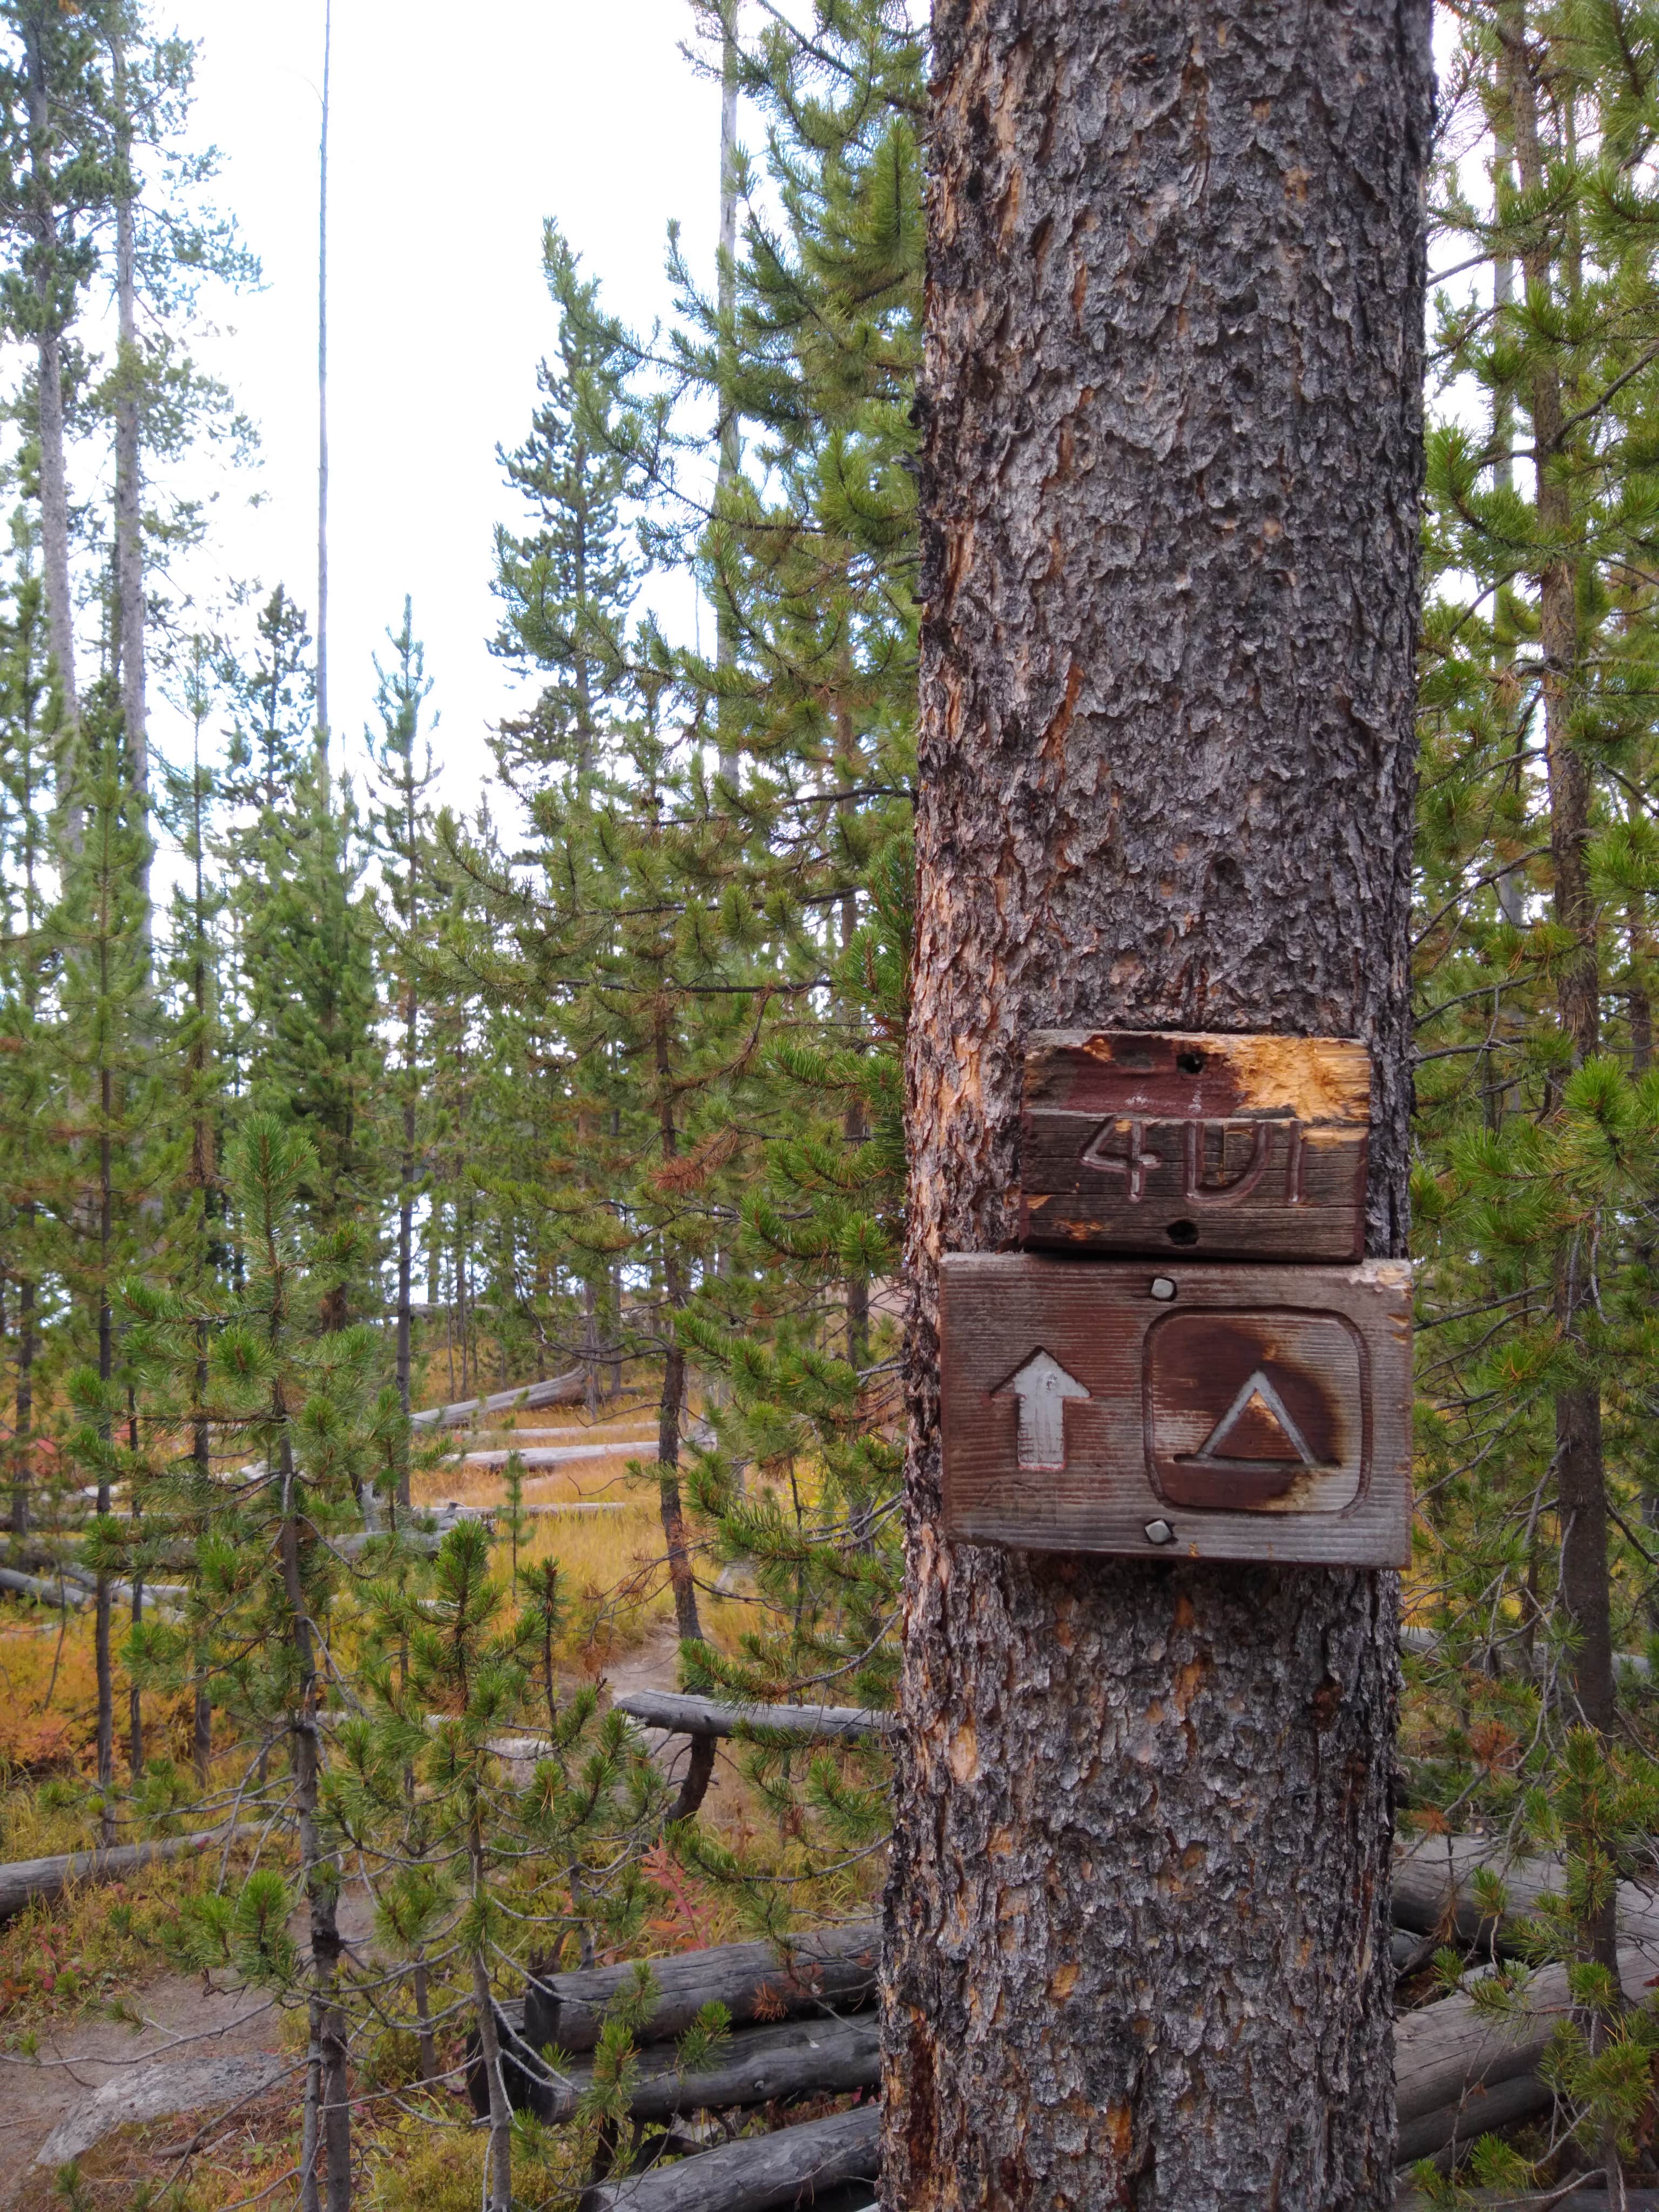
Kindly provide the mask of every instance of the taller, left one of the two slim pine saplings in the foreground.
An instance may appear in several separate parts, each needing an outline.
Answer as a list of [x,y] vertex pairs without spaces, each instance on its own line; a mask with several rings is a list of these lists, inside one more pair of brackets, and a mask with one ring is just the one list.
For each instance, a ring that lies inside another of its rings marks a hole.
[[[327,1805],[323,1723],[341,1681],[330,1635],[341,1559],[330,1537],[358,1522],[358,1500],[383,1460],[383,1409],[376,1332],[367,1323],[343,1327],[334,1314],[349,1230],[323,1234],[307,1221],[305,1194],[321,1172],[305,1130],[252,1113],[228,1164],[228,1217],[243,1248],[239,1285],[204,1298],[133,1281],[126,1303],[150,1418],[188,1447],[170,1467],[168,1495],[199,1526],[186,1617],[155,1624],[135,1646],[135,1666],[157,1679],[210,1666],[215,1703],[243,1743],[261,1754],[285,1745],[290,1776],[272,1812],[294,1825],[310,1922],[299,1960],[285,1882],[254,1871],[237,1898],[206,1896],[184,1940],[197,1964],[234,1964],[303,1997],[301,2203],[319,2203],[321,2148],[330,2212],[345,2212],[349,2022],[338,1986],[341,1832]],[[197,1451],[204,1422],[248,1453],[230,1482],[215,1480]]]

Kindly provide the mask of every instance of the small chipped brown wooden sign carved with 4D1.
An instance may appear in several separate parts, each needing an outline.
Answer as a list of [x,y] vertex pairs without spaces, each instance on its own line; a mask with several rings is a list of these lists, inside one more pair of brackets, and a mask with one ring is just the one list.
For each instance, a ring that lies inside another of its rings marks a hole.
[[1347,1037],[1044,1031],[1026,1053],[1020,1241],[1358,1259],[1371,1062]]

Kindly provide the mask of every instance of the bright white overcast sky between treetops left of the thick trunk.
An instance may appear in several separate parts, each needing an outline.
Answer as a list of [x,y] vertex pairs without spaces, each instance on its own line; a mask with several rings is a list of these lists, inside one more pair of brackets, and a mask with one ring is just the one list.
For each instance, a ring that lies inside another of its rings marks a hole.
[[[195,135],[223,150],[217,199],[265,274],[199,347],[263,438],[257,471],[219,480],[212,573],[281,580],[310,613],[323,0],[175,0],[161,20],[201,42]],[[542,217],[635,323],[668,307],[670,217],[712,276],[719,88],[681,58],[688,35],[686,0],[491,0],[476,15],[334,0],[330,717],[356,739],[372,655],[414,593],[445,796],[462,805],[509,699],[484,646],[491,526],[513,511],[495,447],[524,436],[553,343]],[[155,737],[173,750],[164,710]]]

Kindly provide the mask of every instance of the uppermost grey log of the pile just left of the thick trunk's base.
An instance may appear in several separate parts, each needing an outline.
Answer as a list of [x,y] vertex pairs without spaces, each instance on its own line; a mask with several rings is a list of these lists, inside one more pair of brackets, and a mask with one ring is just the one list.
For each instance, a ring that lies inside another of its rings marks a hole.
[[[732,2026],[827,2008],[854,2013],[876,1995],[880,1922],[872,1918],[812,1929],[792,1938],[787,1958],[770,1942],[732,1942],[653,1958],[648,1964],[657,2004],[637,2035],[641,2044],[684,2035],[706,2004],[723,2004]],[[524,2037],[531,2048],[553,2044],[568,2053],[593,2051],[606,2006],[633,1975],[628,1964],[533,1978],[524,1993]]]

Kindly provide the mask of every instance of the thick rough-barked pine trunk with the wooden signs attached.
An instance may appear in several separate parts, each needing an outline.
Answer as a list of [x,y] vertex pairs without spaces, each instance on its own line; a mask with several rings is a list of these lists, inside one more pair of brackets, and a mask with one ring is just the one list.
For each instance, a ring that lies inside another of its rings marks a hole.
[[1427,0],[936,15],[883,2194],[1391,2201],[1394,1575],[951,1546],[1044,1026],[1360,1035],[1407,1232]]

